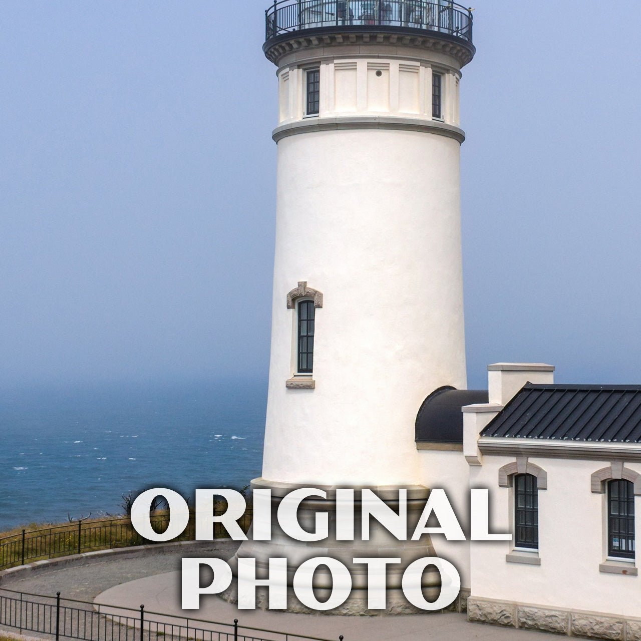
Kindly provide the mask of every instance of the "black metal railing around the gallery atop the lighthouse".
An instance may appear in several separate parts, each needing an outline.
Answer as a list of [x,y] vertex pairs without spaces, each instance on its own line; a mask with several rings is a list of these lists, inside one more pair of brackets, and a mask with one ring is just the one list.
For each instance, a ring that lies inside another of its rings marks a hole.
[[327,27],[403,27],[472,42],[472,10],[445,0],[279,0],[267,9],[266,40]]

